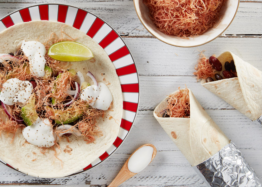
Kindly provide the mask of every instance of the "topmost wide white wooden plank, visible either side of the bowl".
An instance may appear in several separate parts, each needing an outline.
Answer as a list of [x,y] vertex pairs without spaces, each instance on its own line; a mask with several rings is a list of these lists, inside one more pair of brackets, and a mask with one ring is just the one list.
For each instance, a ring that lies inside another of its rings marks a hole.
[[[46,3],[46,1],[38,0],[29,2],[1,3],[0,1],[0,17],[4,17],[17,9],[32,6],[35,4],[34,2]],[[140,23],[134,10],[133,1],[52,1],[52,3],[55,2],[83,8],[96,14],[122,36],[151,36]],[[261,9],[259,2],[241,2],[235,19],[223,33],[223,36],[236,34],[260,34],[261,36],[262,22],[258,21],[262,20]]]

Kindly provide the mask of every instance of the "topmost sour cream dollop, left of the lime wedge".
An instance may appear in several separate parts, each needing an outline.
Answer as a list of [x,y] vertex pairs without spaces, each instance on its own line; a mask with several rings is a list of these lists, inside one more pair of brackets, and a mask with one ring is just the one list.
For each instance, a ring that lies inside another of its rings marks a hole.
[[21,49],[29,60],[31,72],[38,77],[45,76],[46,47],[38,41],[23,41]]

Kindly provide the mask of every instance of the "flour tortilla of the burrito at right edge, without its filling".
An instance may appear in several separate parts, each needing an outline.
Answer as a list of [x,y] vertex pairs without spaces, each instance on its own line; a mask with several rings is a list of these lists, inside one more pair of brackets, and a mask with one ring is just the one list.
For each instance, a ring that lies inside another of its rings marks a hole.
[[201,84],[251,120],[259,118],[262,115],[262,72],[230,51],[217,59],[223,66],[222,71],[226,61],[234,60],[238,77],[208,83],[202,79]]

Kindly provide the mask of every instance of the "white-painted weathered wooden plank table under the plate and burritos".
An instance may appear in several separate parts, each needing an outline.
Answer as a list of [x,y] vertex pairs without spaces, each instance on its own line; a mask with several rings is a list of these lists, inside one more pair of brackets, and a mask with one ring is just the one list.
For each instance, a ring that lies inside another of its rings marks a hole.
[[[0,17],[43,0],[0,0]],[[205,186],[177,146],[153,117],[155,106],[179,86],[192,89],[206,112],[235,142],[262,180],[262,129],[255,122],[206,90],[192,77],[199,51],[207,56],[230,50],[262,70],[261,0],[240,1],[230,27],[216,40],[199,47],[169,46],[148,33],[136,16],[132,0],[53,0],[90,11],[108,22],[124,39],[137,65],[140,83],[139,111],[129,136],[120,148],[97,167],[81,174],[41,179],[24,175],[0,164],[0,185],[107,186],[130,154],[151,143],[158,152],[141,173],[121,186]],[[2,39],[1,39],[2,40]],[[230,89],[230,88],[229,88]]]

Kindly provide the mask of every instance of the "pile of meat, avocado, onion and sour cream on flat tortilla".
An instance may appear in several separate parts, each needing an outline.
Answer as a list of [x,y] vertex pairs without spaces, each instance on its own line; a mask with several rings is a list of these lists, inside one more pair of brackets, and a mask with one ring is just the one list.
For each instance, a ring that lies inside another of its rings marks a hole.
[[112,94],[91,72],[93,85],[82,72],[50,58],[46,51],[56,42],[23,41],[15,55],[0,55],[0,112],[6,118],[0,133],[21,127],[27,142],[38,147],[54,146],[71,134],[91,143],[102,135],[96,120],[111,107]]

